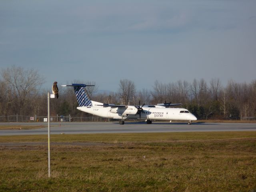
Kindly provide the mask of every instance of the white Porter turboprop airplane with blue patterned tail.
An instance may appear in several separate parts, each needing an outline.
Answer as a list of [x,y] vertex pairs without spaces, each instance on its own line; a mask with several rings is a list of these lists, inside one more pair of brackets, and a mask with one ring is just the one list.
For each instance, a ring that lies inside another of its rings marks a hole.
[[157,105],[115,105],[115,104],[104,104],[90,100],[86,84],[72,84],[62,85],[72,86],[76,94],[78,101],[78,110],[93,114],[104,118],[119,119],[119,124],[124,124],[125,119],[142,119],[147,124],[152,124],[152,120],[173,120],[187,121],[188,124],[192,124],[192,121],[197,120],[196,116],[190,113],[185,108],[168,108],[169,106],[177,106],[181,104],[162,103]]

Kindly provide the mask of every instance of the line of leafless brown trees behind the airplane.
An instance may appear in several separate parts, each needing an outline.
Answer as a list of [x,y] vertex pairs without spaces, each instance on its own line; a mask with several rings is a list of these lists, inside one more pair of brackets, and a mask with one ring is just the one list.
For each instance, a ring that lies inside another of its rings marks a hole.
[[[41,89],[45,79],[37,70],[12,66],[1,70],[0,116],[47,115],[47,92]],[[119,82],[117,92],[98,92],[96,82],[74,80],[72,83],[94,84],[86,87],[92,100],[109,104],[138,105],[164,102],[182,103],[198,119],[252,119],[256,117],[256,80],[239,83],[230,80],[223,86],[219,78],[210,82],[194,79],[162,83],[155,81],[151,90],[136,90],[132,80]],[[59,98],[50,100],[51,115],[91,116],[76,109],[72,87],[59,87]]]

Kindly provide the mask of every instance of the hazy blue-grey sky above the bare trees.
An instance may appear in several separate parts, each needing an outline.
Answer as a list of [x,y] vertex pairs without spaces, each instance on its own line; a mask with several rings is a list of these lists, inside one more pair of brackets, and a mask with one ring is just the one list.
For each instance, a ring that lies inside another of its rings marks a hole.
[[256,79],[256,0],[2,0],[0,69],[117,91]]

